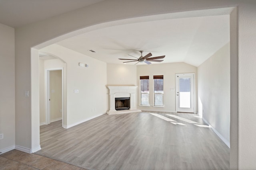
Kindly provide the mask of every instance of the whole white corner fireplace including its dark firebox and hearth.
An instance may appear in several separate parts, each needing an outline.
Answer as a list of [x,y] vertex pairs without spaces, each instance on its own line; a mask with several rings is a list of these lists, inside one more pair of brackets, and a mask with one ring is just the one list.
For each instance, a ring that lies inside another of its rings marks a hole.
[[[133,113],[136,109],[137,86],[107,86],[109,89],[109,115]],[[116,107],[118,105],[118,107]]]

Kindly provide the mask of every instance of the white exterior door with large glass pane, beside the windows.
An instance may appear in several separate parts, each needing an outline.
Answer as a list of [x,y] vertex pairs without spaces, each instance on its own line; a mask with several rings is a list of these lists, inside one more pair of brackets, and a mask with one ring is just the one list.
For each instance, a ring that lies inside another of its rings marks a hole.
[[194,73],[176,74],[176,111],[194,113]]

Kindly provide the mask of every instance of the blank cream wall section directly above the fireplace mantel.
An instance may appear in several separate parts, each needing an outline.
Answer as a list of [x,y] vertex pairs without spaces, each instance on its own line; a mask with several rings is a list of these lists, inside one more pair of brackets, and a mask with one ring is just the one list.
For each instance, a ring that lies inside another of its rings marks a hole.
[[136,86],[136,65],[107,64],[108,86]]

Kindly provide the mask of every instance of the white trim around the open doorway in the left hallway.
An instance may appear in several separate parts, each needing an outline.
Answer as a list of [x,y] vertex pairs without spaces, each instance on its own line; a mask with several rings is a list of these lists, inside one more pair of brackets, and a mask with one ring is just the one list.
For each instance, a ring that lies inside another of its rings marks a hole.
[[60,68],[46,68],[45,69],[45,124],[48,125],[50,124],[50,101],[49,101],[49,98],[50,98],[50,71],[55,71],[55,70],[61,70],[61,76],[62,76],[62,80],[61,80],[61,86],[62,86],[62,127],[63,127],[63,92],[64,92],[64,89],[63,89],[63,84],[64,84],[64,81],[63,81],[63,78],[64,78],[64,75],[63,75],[63,67],[60,67]]

